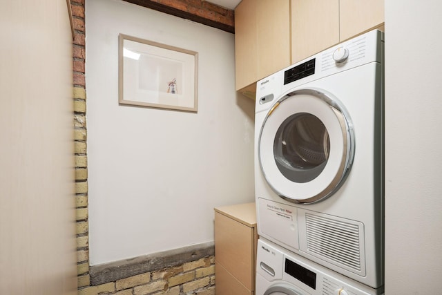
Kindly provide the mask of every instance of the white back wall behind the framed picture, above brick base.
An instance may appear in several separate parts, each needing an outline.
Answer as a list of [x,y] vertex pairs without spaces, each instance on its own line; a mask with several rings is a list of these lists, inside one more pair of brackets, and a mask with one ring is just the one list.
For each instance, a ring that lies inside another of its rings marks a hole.
[[[118,34],[198,52],[198,113],[118,105]],[[234,35],[118,0],[86,1],[90,264],[213,240],[213,207],[253,202],[254,104]]]

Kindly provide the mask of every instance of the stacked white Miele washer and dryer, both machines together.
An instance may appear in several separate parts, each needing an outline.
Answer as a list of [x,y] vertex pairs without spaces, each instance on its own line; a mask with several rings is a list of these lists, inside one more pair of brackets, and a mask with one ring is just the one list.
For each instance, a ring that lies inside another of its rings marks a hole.
[[256,295],[383,293],[383,32],[256,90]]

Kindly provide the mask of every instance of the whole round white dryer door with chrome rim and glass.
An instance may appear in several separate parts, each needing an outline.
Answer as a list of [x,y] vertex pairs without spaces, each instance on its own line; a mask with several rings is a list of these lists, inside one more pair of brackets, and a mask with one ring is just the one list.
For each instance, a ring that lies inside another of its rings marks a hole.
[[281,198],[311,203],[332,196],[354,158],[350,117],[325,91],[293,91],[267,113],[258,158],[267,183]]

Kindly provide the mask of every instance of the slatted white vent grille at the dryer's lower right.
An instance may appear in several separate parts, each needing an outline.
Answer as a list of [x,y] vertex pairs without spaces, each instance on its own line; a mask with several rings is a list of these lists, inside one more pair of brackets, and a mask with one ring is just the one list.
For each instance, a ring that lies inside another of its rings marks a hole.
[[305,214],[307,251],[353,272],[361,272],[360,227],[349,222]]

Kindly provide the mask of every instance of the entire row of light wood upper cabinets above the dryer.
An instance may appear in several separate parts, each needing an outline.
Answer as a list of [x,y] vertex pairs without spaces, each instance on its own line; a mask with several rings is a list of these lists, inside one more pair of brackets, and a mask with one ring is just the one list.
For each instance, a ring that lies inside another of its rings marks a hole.
[[242,0],[235,10],[236,90],[384,22],[384,0]]

